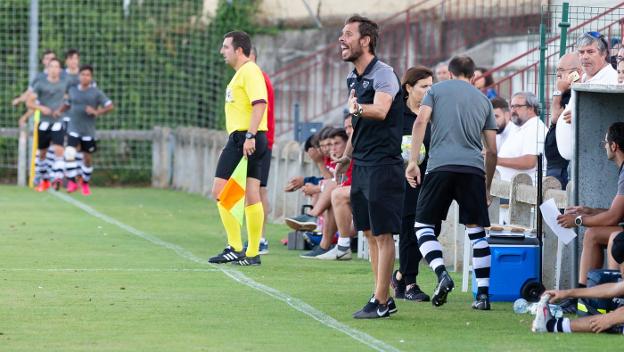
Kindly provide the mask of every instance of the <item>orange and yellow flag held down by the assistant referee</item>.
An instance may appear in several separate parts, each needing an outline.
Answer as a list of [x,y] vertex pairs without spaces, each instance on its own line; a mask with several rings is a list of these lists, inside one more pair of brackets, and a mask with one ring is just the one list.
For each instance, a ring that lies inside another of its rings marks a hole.
[[247,158],[241,158],[232,176],[230,176],[221,193],[219,193],[219,204],[229,211],[241,226],[243,226],[243,218],[245,216],[246,185]]

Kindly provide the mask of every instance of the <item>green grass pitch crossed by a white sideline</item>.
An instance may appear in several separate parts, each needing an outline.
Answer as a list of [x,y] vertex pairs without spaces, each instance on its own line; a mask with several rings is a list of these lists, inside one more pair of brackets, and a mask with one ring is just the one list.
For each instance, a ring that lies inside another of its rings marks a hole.
[[[368,263],[301,259],[279,245],[284,226],[267,232],[262,266],[212,266],[225,236],[205,198],[0,186],[0,351],[621,350],[621,336],[532,334],[510,303],[472,311],[459,290],[440,308],[398,301],[390,319],[356,321]],[[419,283],[431,293],[428,268]]]

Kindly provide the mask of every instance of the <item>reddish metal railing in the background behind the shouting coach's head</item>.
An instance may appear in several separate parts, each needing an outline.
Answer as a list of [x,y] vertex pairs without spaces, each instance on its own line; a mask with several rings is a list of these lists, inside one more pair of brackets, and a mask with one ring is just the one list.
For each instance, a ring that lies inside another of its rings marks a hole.
[[[379,21],[377,56],[400,76],[410,66],[432,66],[457,51],[497,36],[526,34],[539,25],[542,0],[421,0]],[[351,66],[338,40],[272,74],[276,135],[292,131],[294,105],[303,122],[340,115]]]

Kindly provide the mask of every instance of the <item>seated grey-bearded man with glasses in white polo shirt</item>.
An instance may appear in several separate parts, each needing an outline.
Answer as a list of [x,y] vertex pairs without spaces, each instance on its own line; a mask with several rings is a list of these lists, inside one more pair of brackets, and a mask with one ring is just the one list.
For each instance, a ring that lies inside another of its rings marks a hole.
[[511,121],[518,130],[511,134],[498,151],[496,169],[504,181],[518,173],[529,174],[535,182],[537,155],[544,150],[546,126],[537,116],[539,101],[535,94],[520,92],[511,98]]

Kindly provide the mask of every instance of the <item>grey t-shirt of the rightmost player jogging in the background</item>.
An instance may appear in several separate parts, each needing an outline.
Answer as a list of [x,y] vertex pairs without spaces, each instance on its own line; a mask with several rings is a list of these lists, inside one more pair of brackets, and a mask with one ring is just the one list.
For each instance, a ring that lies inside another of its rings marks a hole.
[[95,116],[87,114],[85,109],[87,106],[92,108],[108,106],[112,102],[99,88],[93,86],[85,90],[80,86],[72,86],[68,95],[67,104],[70,105],[70,109],[67,115],[70,121],[67,132],[95,138]]

